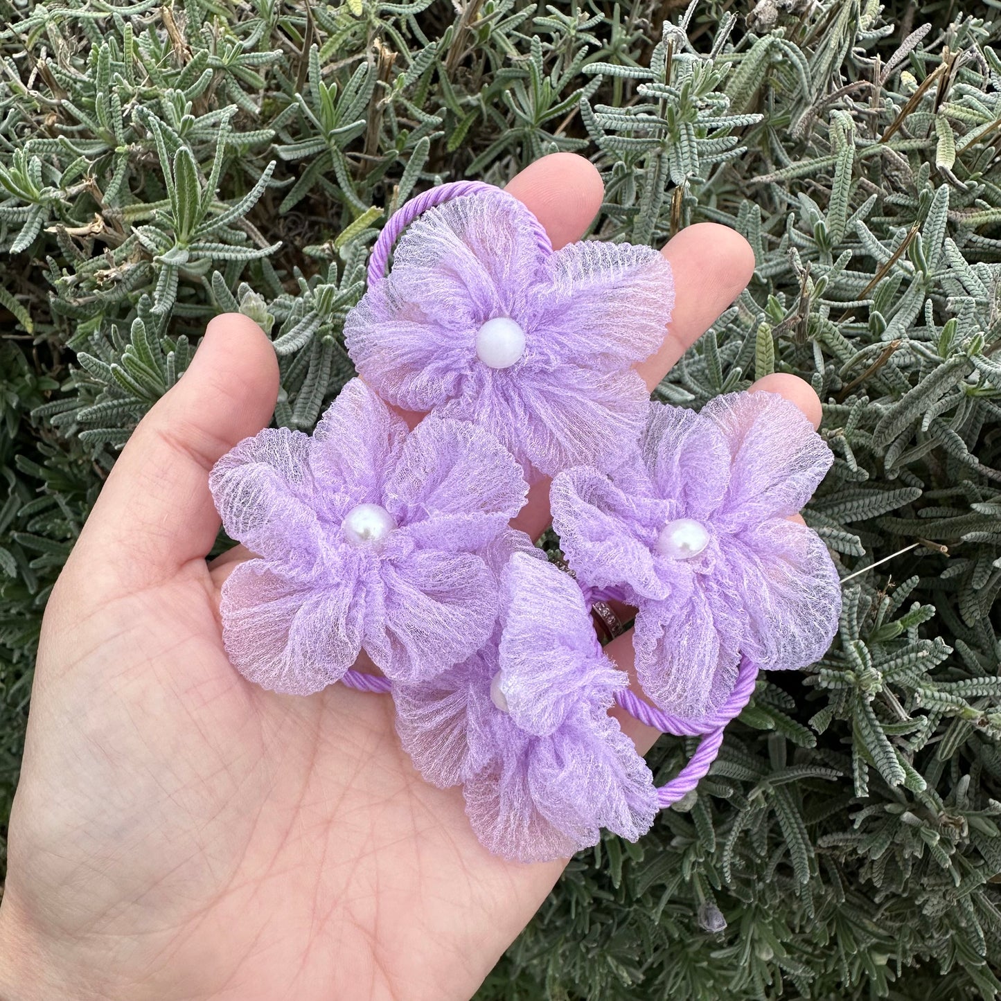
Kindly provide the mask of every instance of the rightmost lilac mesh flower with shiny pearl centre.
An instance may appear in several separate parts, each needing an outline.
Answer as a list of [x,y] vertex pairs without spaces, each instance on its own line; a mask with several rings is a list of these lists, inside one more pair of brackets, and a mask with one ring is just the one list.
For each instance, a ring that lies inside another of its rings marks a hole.
[[661,709],[699,719],[741,657],[801,668],[827,651],[841,590],[820,538],[795,522],[832,462],[800,410],[732,393],[696,413],[652,403],[639,454],[553,482],[554,526],[578,580],[637,606],[636,668]]

